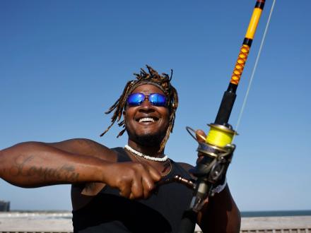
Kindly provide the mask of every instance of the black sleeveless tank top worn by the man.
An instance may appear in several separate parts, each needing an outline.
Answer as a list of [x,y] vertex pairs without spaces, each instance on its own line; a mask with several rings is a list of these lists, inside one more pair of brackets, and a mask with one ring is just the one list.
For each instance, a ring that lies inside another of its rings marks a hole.
[[[123,148],[117,152],[117,162],[131,161]],[[191,179],[176,162],[163,179],[181,175]],[[73,211],[74,232],[179,232],[184,210],[189,208],[192,191],[177,183],[160,186],[146,200],[131,201],[119,196],[119,190],[105,186],[85,207]]]

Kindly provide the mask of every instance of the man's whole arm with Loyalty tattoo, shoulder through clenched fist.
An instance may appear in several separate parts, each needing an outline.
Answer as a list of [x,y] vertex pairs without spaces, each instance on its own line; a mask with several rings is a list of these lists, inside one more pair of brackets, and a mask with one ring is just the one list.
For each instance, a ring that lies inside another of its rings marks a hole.
[[160,180],[150,165],[115,162],[115,152],[86,139],[28,142],[0,151],[0,177],[20,187],[102,182],[122,196],[146,198]]

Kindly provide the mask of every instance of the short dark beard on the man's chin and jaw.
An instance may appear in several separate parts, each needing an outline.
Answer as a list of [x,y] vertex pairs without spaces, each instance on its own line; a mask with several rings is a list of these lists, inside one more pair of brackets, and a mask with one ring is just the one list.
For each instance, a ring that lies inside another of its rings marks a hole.
[[127,129],[127,127],[125,128],[131,141],[146,147],[160,147],[160,143],[163,141],[167,130],[167,128],[165,128],[165,130],[158,131],[156,133],[144,133],[139,135],[136,131],[131,132]]

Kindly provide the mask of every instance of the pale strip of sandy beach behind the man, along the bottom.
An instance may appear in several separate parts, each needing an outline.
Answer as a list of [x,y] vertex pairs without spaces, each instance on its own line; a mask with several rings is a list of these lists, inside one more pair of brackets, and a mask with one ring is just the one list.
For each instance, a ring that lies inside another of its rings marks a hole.
[[[0,233],[72,231],[71,213],[0,213]],[[195,232],[201,232],[198,226]],[[242,217],[240,233],[246,232],[311,233],[311,216]]]

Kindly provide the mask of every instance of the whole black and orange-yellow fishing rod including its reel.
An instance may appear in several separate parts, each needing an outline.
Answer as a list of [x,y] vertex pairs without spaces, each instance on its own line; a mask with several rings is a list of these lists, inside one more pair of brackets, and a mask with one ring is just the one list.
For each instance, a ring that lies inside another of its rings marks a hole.
[[[194,189],[194,196],[190,203],[189,210],[184,212],[180,226],[181,233],[194,232],[196,216],[203,207],[204,201],[217,192],[218,186],[225,185],[225,174],[235,150],[235,145],[232,144],[232,141],[233,137],[237,135],[237,132],[228,124],[228,121],[235,102],[237,86],[240,83],[247,56],[250,53],[250,47],[252,46],[259,19],[262,16],[264,3],[265,0],[256,1],[245,38],[240,47],[240,52],[230,78],[230,83],[223,94],[214,123],[208,124],[210,130],[205,141],[198,140],[196,138],[196,131],[187,127],[187,131],[199,143],[197,151],[200,155],[203,155],[203,158],[199,160],[196,163],[196,167],[190,171],[197,179],[191,184],[192,189]],[[175,177],[175,180],[189,186],[189,181],[182,181],[182,179],[178,179],[178,177]]]

